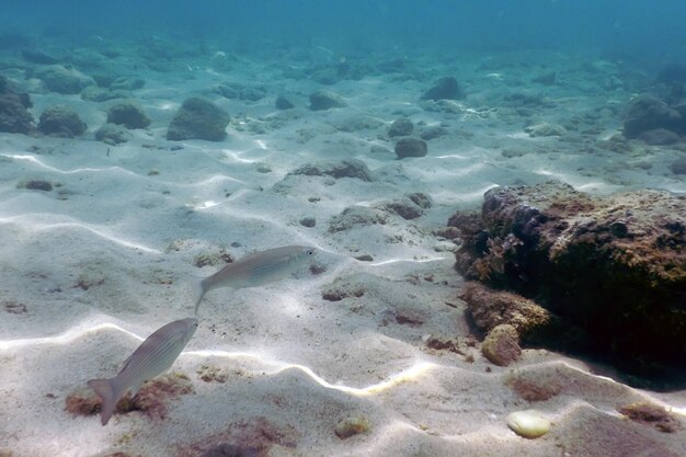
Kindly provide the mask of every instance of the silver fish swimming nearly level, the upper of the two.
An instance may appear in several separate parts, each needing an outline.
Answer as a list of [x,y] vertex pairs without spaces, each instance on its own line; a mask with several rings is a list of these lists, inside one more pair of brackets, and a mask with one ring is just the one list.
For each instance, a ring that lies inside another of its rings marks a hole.
[[315,253],[316,248],[285,245],[255,252],[229,263],[211,276],[193,284],[195,313],[197,315],[201,300],[209,290],[218,287],[256,287],[281,281],[298,270]]

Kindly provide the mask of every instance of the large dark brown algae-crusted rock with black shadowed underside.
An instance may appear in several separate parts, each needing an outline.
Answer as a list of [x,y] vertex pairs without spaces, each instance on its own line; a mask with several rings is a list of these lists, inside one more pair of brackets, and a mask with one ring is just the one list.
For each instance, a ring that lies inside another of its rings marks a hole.
[[496,187],[456,215],[468,278],[535,298],[621,368],[686,362],[686,197],[595,198],[559,183]]

